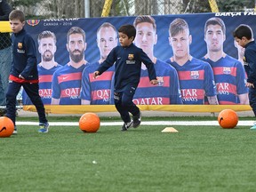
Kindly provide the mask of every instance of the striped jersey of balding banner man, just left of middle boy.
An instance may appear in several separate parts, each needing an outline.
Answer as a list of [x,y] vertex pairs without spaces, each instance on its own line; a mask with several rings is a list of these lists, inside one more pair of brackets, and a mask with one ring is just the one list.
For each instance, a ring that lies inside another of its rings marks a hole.
[[111,80],[115,66],[108,68],[97,78],[93,78],[94,71],[100,67],[99,62],[94,62],[84,68],[82,75],[81,99],[89,100],[91,105],[108,105],[111,98]]

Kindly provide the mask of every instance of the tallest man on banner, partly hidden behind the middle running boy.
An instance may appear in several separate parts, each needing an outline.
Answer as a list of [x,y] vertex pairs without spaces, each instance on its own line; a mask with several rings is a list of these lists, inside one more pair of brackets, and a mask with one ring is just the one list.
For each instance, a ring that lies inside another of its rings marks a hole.
[[142,63],[140,84],[133,96],[133,102],[136,105],[182,104],[176,69],[154,56],[154,45],[157,43],[156,20],[150,15],[138,16],[133,26],[137,31],[134,43],[154,62],[158,80],[157,86],[149,83],[148,69]]

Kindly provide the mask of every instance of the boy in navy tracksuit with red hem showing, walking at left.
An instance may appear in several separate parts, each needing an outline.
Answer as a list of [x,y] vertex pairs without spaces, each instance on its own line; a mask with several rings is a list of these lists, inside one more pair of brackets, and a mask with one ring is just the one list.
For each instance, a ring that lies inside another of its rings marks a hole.
[[9,85],[6,92],[6,116],[14,124],[13,134],[17,134],[16,96],[20,87],[28,94],[29,99],[36,106],[39,116],[38,132],[48,132],[49,124],[45,116],[44,103],[39,95],[39,81],[36,61],[36,44],[28,35],[25,26],[25,15],[20,10],[13,10],[9,14],[12,28],[12,69],[9,76]]

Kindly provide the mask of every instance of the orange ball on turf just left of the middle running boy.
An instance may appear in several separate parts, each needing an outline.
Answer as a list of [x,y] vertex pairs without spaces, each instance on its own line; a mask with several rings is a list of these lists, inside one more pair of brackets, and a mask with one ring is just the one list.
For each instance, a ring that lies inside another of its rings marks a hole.
[[94,113],[85,113],[79,119],[79,127],[83,132],[97,132],[100,129],[100,117]]

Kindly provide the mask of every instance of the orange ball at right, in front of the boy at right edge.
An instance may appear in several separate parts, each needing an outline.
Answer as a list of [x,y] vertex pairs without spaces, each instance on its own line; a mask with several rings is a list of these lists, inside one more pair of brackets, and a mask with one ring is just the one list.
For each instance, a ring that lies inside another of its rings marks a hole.
[[232,129],[236,127],[236,124],[238,123],[238,116],[234,110],[224,109],[220,111],[218,122],[222,128]]

